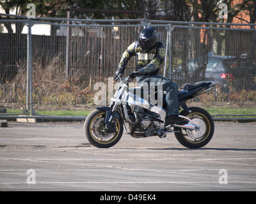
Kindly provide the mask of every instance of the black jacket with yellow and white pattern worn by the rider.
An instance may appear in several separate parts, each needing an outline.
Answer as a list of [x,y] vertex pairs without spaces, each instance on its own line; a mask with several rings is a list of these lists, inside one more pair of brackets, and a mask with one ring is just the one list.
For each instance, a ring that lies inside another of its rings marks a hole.
[[134,41],[122,55],[118,70],[124,73],[125,66],[132,56],[136,57],[136,71],[142,75],[156,75],[164,61],[165,48],[163,43],[157,42],[156,46],[148,52],[143,52],[138,41]]

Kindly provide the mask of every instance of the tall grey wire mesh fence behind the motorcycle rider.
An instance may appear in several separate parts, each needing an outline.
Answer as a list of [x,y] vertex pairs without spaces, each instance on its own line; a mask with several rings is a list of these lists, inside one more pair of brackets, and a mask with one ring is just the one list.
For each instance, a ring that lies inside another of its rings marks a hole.
[[[213,92],[189,101],[191,105],[200,103],[216,117],[256,119],[254,24],[4,14],[0,18],[0,118],[83,119],[90,107],[99,105],[95,95],[103,88],[108,104],[124,50],[148,26],[157,29],[158,40],[166,47],[159,75],[179,87],[202,80],[216,82]],[[133,57],[125,75],[135,64]]]

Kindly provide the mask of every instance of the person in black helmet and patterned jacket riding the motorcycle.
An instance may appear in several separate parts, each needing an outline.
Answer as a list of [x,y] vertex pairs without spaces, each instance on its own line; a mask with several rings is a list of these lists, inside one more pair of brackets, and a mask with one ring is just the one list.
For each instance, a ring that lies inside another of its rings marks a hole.
[[165,125],[184,125],[186,120],[180,118],[178,103],[178,86],[172,80],[157,75],[161,64],[164,61],[165,48],[163,43],[158,41],[157,31],[154,27],[147,27],[140,33],[138,41],[134,41],[125,50],[118,65],[116,76],[124,73],[125,66],[132,56],[136,56],[136,71],[129,77],[135,78],[141,86],[150,82],[162,83],[163,91],[166,91],[167,117]]

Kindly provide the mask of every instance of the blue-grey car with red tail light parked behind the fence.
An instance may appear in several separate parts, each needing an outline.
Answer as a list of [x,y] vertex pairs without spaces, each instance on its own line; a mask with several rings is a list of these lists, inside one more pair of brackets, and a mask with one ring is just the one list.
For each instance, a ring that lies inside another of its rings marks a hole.
[[205,69],[205,80],[212,80],[221,86],[221,91],[227,91],[228,82],[236,78],[236,57],[209,55]]

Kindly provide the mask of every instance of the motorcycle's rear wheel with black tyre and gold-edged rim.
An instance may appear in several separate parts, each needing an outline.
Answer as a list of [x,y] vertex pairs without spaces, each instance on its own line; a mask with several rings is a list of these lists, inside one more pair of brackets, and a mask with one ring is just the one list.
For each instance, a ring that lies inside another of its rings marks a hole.
[[182,128],[174,128],[175,137],[181,145],[188,147],[189,149],[198,149],[204,147],[207,143],[210,142],[214,134],[214,121],[211,115],[199,107],[190,107],[191,112],[186,112],[182,110],[180,115],[189,117],[195,124],[200,126],[199,130],[189,130]]

